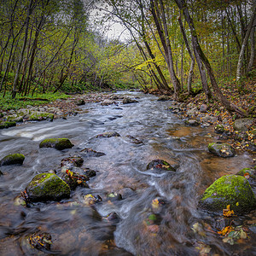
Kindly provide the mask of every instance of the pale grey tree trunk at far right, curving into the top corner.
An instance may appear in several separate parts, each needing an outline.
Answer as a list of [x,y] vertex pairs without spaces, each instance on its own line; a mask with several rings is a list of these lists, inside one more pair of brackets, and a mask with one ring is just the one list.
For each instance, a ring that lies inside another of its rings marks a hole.
[[248,41],[249,35],[251,33],[251,30],[252,30],[252,27],[253,27],[253,21],[254,21],[255,17],[256,17],[256,0],[253,0],[253,15],[251,17],[249,25],[247,26],[247,33],[246,33],[245,37],[242,40],[241,51],[240,51],[240,55],[239,55],[238,63],[237,63],[237,69],[236,69],[236,82],[237,83],[239,83],[240,79],[241,79],[242,61],[244,59],[245,49],[246,49],[246,46],[247,46],[247,41]]

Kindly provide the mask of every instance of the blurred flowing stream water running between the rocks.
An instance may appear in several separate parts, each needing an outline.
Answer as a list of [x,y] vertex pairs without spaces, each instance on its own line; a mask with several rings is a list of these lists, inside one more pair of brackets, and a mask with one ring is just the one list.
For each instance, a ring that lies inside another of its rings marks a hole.
[[[0,131],[0,158],[14,153],[26,156],[22,166],[1,167],[0,254],[255,255],[255,233],[248,231],[250,236],[234,245],[224,243],[217,234],[220,217],[197,209],[200,196],[214,180],[252,166],[253,156],[212,156],[207,152],[207,144],[216,141],[207,135],[212,128],[183,125],[166,110],[171,102],[157,102],[155,96],[139,92],[119,95],[136,96],[138,103],[105,107],[88,103],[83,106],[88,113],[67,120]],[[105,131],[117,131],[121,137],[96,138]],[[143,143],[131,143],[126,135]],[[67,137],[75,146],[62,151],[39,148],[49,137]],[[49,170],[61,176],[61,159],[79,155],[83,148],[106,154],[84,156],[82,168],[97,173],[90,178],[90,189],[78,188],[70,199],[60,202],[15,206],[15,197],[32,177]],[[156,159],[178,161],[177,172],[147,170],[148,163]],[[109,201],[111,192],[120,193],[123,199]],[[95,207],[86,206],[87,194],[100,195],[103,200]],[[165,204],[154,207],[154,199]],[[118,223],[102,218],[110,212],[119,215]],[[255,212],[235,220],[236,225],[247,227],[255,223]],[[52,236],[48,252],[30,247],[27,241],[28,236],[40,232]]]

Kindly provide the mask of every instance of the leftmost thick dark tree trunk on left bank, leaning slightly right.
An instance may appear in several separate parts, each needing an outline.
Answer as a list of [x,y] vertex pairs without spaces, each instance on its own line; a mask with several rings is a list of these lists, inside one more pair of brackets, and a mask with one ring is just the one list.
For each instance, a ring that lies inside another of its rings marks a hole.
[[18,63],[16,74],[15,74],[15,81],[14,81],[14,84],[13,84],[13,91],[12,91],[12,98],[13,99],[15,98],[16,93],[19,90],[18,82],[19,82],[19,76],[20,76],[20,68],[21,68],[21,65],[22,65],[22,62],[23,62],[23,56],[24,56],[24,52],[25,52],[25,49],[26,49],[29,20],[30,20],[30,15],[32,14],[32,3],[33,3],[33,0],[30,0],[29,7],[27,9],[26,30],[25,30],[25,35],[24,35],[24,42],[23,42],[23,45],[22,45],[22,49],[21,49],[21,53],[20,53],[20,60],[19,60],[19,63]]

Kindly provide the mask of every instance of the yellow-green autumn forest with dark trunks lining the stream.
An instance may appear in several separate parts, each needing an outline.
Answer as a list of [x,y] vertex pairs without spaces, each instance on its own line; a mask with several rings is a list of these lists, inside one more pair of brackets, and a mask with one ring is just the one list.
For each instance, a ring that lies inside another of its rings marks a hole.
[[[256,1],[0,0],[0,93],[115,88],[180,99],[255,76]],[[121,24],[129,40],[108,38]]]

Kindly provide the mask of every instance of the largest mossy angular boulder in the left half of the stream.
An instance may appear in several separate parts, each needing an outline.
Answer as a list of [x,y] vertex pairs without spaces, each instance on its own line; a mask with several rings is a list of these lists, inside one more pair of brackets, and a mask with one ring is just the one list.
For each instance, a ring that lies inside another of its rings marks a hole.
[[70,196],[70,188],[54,173],[41,173],[26,186],[30,201],[60,201]]

